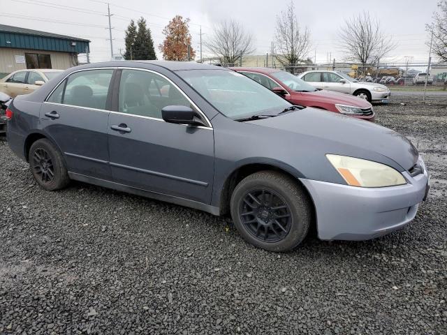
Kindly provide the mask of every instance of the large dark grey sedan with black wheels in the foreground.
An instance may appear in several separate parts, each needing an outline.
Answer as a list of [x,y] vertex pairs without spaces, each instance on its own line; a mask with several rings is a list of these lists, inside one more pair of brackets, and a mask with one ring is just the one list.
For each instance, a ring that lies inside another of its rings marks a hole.
[[[106,93],[89,84],[97,76]],[[230,213],[242,237],[270,251],[298,246],[311,227],[321,239],[387,234],[428,190],[418,151],[395,131],[296,107],[207,64],[77,66],[14,98],[6,117],[10,149],[45,190],[75,179]]]

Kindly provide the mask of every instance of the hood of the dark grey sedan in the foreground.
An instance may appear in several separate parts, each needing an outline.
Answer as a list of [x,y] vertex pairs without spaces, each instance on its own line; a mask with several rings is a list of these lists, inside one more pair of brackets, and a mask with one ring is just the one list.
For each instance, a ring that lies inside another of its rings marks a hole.
[[300,144],[307,143],[313,151],[378,161],[401,172],[412,168],[418,160],[416,148],[399,133],[316,108],[307,107],[249,123],[276,128],[281,133],[295,133],[291,138]]

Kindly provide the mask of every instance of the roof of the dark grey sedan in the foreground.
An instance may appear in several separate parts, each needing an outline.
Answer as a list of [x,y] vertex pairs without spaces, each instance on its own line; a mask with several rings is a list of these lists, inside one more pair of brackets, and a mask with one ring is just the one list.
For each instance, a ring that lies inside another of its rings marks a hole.
[[141,66],[142,64],[152,64],[161,66],[171,71],[179,70],[226,70],[221,66],[210,64],[197,63],[196,61],[105,61],[101,63],[91,63],[82,68],[97,68],[97,67],[125,67],[125,66]]

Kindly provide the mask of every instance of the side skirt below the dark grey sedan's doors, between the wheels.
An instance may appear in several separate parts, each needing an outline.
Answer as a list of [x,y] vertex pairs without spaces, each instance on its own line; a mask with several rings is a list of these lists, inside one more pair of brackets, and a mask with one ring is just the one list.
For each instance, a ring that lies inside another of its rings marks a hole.
[[152,191],[143,190],[142,188],[136,188],[133,186],[127,186],[113,181],[108,181],[104,179],[94,178],[85,176],[84,174],[78,174],[74,172],[68,172],[68,176],[73,180],[82,181],[87,184],[93,184],[96,186],[102,186],[106,188],[112,188],[113,190],[122,191],[126,193],[131,193],[135,195],[140,195],[145,198],[152,198],[156,200],[171,202],[173,204],[179,204],[184,207],[191,207],[193,209],[199,209],[200,211],[206,211],[212,215],[219,216],[219,207],[211,206],[210,204],[204,204],[203,202],[197,202],[193,200],[188,200],[184,198],[174,197],[173,195],[166,195],[163,193],[157,193]]

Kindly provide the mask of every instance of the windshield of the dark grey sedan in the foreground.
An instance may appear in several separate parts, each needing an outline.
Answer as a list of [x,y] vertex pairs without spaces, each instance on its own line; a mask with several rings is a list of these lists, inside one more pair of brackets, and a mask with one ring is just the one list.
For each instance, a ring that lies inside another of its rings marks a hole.
[[180,70],[176,73],[226,117],[276,115],[291,104],[254,80],[230,70]]

